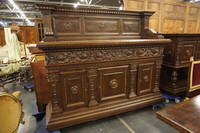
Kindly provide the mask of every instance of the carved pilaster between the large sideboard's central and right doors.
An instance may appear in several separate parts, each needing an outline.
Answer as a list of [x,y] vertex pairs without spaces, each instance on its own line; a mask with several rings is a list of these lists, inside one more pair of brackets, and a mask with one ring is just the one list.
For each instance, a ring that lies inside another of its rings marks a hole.
[[136,96],[135,83],[136,83],[136,75],[137,75],[137,65],[130,64],[130,93],[129,98],[133,98]]

